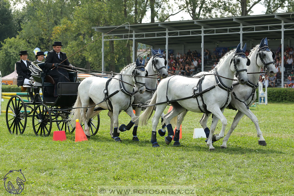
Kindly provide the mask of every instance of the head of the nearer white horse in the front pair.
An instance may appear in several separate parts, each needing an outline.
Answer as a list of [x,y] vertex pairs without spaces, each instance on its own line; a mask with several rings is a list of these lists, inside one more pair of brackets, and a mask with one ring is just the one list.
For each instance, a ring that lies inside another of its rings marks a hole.
[[247,77],[247,66],[250,65],[250,60],[247,58],[245,55],[246,51],[246,43],[241,49],[241,43],[236,48],[234,57],[232,58],[232,61],[234,66],[230,67],[232,72],[236,74],[236,77],[238,78],[238,81],[240,82],[241,85],[244,85],[248,81]]

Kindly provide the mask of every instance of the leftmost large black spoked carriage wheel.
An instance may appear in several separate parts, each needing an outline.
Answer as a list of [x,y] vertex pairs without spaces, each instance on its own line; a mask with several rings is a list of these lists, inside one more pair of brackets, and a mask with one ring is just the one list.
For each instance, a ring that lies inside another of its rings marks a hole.
[[[12,113],[10,113],[11,111]],[[27,109],[20,96],[12,96],[6,107],[6,125],[10,134],[23,134],[27,124]]]

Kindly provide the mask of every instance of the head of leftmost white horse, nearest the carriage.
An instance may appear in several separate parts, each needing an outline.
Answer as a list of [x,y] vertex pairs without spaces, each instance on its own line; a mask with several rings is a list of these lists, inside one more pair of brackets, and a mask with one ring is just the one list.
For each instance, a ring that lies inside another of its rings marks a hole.
[[139,61],[139,58],[136,60],[136,66],[133,70],[133,81],[135,82],[135,85],[138,86],[138,92],[142,94],[146,90],[145,86],[145,76],[148,76],[147,70],[145,70],[145,59],[143,59],[142,62]]

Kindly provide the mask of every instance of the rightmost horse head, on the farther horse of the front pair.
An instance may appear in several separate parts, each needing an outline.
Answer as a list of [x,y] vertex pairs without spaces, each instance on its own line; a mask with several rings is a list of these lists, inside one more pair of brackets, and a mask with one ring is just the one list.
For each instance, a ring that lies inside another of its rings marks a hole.
[[258,66],[263,65],[263,69],[269,74],[269,76],[274,76],[277,73],[275,62],[273,60],[275,56],[275,52],[268,46],[267,38],[263,38],[256,54],[256,64]]

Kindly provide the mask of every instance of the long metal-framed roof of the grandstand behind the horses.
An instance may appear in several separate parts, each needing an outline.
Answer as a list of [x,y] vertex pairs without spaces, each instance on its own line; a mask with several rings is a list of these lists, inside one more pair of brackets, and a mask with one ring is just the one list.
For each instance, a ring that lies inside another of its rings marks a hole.
[[[188,21],[171,21],[123,25],[108,33],[105,40],[130,40],[148,45],[201,43],[202,26],[204,40],[207,42],[227,42],[240,40],[240,28],[243,40],[281,39],[281,23],[284,21],[284,36],[293,39],[294,13],[277,13],[254,16],[211,18]],[[92,27],[98,32],[107,33],[118,26]]]

